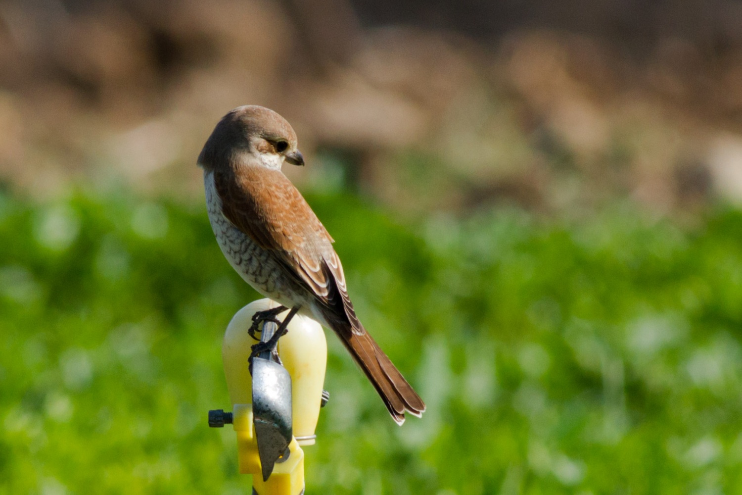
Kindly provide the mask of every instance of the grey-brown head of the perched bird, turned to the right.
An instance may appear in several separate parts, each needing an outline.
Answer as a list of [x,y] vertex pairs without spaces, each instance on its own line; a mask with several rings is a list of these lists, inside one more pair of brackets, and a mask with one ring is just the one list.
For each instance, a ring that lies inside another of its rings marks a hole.
[[275,111],[257,105],[234,108],[222,117],[203,146],[198,165],[213,170],[240,163],[247,157],[257,158],[269,168],[280,168],[284,162],[304,164],[289,122]]

